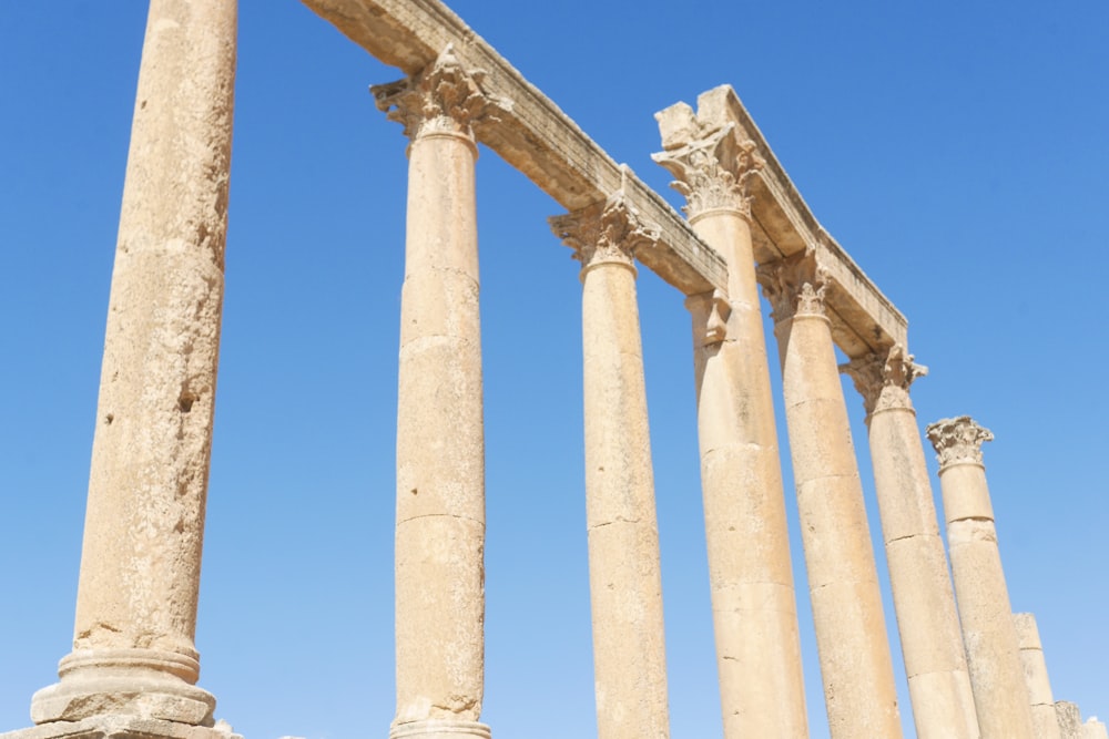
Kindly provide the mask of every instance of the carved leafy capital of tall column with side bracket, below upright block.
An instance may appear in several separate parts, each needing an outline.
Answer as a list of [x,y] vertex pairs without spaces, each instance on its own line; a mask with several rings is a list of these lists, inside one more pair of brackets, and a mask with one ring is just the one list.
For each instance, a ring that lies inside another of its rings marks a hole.
[[725,208],[751,217],[749,179],[765,166],[753,141],[740,141],[734,123],[712,130],[688,106],[689,121],[665,136],[665,151],[651,158],[674,175],[670,186],[685,196],[682,211],[690,218]]

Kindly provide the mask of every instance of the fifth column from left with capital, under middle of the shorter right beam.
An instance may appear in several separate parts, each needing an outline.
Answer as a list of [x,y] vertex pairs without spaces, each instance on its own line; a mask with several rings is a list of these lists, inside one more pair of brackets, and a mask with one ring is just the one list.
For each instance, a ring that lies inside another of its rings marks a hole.
[[773,306],[805,566],[833,739],[902,736],[827,278],[811,253],[759,268]]

